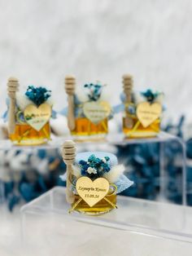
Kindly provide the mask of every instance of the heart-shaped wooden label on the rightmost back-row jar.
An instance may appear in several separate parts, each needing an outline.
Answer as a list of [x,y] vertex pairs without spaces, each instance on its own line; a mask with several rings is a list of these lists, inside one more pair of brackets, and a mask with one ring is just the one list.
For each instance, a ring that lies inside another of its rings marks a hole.
[[142,102],[137,104],[137,118],[141,121],[142,126],[146,128],[152,122],[158,119],[162,113],[162,106],[159,103],[150,104],[149,102]]

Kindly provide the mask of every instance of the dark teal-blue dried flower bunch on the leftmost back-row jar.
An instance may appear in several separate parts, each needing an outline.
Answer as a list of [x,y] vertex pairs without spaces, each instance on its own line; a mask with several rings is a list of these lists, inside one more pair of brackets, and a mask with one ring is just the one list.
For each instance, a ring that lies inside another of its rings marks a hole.
[[46,90],[45,87],[28,86],[25,95],[28,97],[28,99],[32,100],[34,104],[40,106],[46,102],[48,98],[50,98],[50,92],[51,90]]

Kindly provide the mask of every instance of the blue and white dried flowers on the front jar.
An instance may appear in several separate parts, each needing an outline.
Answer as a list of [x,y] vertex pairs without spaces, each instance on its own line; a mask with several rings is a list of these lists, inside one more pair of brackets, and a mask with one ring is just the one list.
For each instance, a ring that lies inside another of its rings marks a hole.
[[91,155],[88,161],[79,161],[81,166],[81,175],[87,176],[90,179],[97,179],[102,177],[103,174],[111,170],[111,163],[109,157],[103,157],[102,159]]

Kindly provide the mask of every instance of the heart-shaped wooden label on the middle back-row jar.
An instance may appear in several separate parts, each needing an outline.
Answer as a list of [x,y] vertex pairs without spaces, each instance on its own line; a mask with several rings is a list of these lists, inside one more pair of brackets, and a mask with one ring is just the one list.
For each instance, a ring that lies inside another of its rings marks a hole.
[[83,113],[89,121],[97,125],[110,115],[111,106],[106,101],[85,102],[85,104],[83,104]]

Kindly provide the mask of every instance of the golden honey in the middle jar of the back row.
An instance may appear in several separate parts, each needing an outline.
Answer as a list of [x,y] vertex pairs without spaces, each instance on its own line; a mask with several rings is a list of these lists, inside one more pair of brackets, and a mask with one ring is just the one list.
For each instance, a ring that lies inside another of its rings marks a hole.
[[[95,125],[86,117],[76,118],[76,128],[72,130],[72,135],[76,139],[103,139],[108,133],[107,118]],[[88,136],[89,138],[86,138]]]

